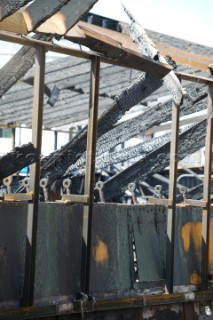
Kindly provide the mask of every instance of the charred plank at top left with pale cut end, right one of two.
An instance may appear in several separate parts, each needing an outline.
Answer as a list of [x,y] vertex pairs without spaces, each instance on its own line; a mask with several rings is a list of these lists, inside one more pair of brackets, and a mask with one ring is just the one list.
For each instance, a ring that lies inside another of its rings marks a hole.
[[71,0],[43,23],[37,32],[64,35],[98,0]]

